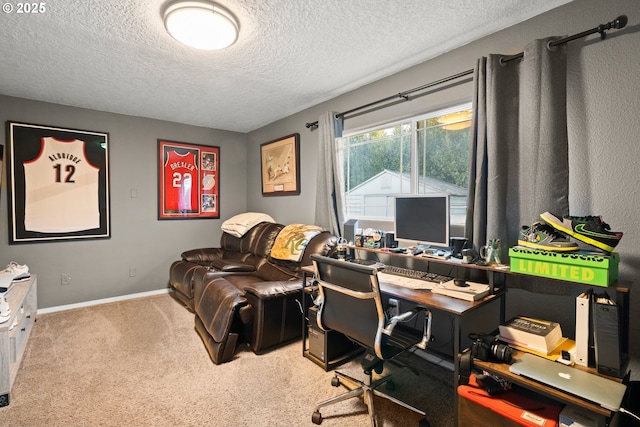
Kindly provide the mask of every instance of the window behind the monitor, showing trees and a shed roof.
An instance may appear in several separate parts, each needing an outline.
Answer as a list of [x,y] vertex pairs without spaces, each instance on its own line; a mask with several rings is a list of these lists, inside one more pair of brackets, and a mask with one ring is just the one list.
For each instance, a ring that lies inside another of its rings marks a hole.
[[452,227],[464,227],[470,142],[471,104],[346,134],[346,217],[392,222],[396,195],[447,193]]

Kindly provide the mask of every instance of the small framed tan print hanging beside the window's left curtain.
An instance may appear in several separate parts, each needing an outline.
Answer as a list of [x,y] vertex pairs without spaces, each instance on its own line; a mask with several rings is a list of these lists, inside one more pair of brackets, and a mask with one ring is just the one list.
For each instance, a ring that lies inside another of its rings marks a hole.
[[263,196],[300,194],[300,134],[262,144],[260,165]]

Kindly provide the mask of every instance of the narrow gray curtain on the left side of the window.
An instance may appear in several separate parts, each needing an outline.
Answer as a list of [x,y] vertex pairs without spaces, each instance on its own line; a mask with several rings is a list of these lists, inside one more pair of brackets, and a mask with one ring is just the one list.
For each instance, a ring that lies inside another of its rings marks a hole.
[[344,120],[327,112],[318,119],[318,186],[315,224],[342,236],[344,179],[336,138],[342,137]]

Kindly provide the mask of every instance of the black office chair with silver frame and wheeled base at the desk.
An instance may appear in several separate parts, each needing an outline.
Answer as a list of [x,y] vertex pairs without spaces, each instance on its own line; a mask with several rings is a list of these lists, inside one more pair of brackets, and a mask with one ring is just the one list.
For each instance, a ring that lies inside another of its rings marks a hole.
[[[323,330],[341,332],[365,348],[362,367],[366,380],[359,381],[340,372],[335,373],[331,385],[338,387],[341,380],[356,385],[356,388],[318,403],[311,417],[314,424],[322,423],[320,408],[352,397],[363,396],[369,409],[372,427],[376,425],[373,395],[389,399],[420,415],[423,411],[377,390],[382,384],[392,389],[391,377],[385,376],[372,382],[373,372],[381,374],[383,362],[409,350],[413,346],[425,348],[431,335],[431,312],[415,308],[387,319],[382,306],[378,285],[377,269],[320,255],[311,255],[319,287],[320,308],[318,326]],[[418,331],[402,322],[413,318],[420,311],[426,311],[424,328]],[[428,427],[426,419],[420,427]]]

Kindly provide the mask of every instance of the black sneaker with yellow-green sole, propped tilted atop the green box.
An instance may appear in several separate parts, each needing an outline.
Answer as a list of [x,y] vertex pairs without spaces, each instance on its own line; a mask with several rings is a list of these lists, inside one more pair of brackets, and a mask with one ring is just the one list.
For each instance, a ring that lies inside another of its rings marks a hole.
[[595,246],[606,252],[613,249],[622,239],[621,231],[610,231],[609,224],[602,221],[601,216],[564,216],[560,218],[551,212],[540,215],[556,230],[567,233],[588,245]]

